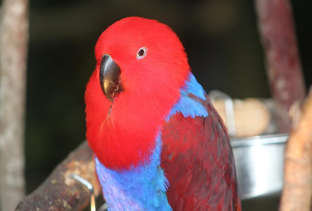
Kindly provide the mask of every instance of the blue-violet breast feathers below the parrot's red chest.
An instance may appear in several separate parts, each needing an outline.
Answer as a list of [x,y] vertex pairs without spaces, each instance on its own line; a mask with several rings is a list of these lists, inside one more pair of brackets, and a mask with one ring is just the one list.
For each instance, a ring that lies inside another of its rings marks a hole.
[[161,136],[147,165],[122,172],[102,165],[95,157],[95,168],[109,210],[172,210],[167,199],[168,180],[160,167]]

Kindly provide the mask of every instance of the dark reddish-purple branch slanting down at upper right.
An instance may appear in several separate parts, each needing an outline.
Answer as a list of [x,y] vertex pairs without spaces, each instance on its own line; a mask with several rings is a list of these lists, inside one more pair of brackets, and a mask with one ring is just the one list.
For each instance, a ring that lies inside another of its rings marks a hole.
[[290,105],[305,96],[304,80],[289,0],[254,0],[265,50],[266,72],[275,99],[280,133],[290,132]]

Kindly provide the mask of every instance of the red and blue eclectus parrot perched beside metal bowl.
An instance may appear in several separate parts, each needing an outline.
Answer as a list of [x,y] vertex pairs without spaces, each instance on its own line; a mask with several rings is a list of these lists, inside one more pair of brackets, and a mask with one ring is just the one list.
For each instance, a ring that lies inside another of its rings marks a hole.
[[127,17],[95,46],[86,137],[109,210],[241,210],[229,137],[167,25]]

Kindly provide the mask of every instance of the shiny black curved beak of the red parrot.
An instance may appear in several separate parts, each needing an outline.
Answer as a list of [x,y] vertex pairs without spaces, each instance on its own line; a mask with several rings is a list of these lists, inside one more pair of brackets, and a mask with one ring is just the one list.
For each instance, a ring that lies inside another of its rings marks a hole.
[[121,92],[120,68],[108,54],[102,56],[100,66],[100,84],[109,101],[113,101],[114,95]]

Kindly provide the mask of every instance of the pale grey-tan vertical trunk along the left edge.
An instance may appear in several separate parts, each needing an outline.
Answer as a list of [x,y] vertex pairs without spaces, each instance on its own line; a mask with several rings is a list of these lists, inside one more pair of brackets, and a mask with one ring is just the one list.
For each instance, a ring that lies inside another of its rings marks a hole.
[[0,208],[24,196],[28,0],[3,0],[0,22]]

